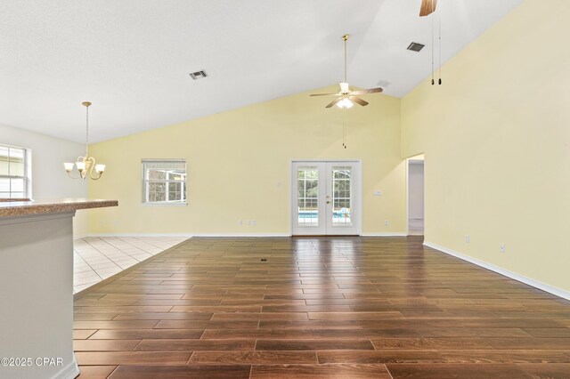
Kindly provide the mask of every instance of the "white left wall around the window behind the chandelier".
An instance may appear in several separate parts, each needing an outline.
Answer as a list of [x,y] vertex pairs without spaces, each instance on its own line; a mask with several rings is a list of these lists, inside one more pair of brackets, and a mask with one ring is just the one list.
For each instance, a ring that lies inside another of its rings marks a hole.
[[[85,145],[44,134],[0,125],[0,144],[31,150],[32,198],[86,198],[87,183],[69,179],[63,162],[75,162],[85,154]],[[87,234],[88,211],[77,211],[73,221],[74,238]]]

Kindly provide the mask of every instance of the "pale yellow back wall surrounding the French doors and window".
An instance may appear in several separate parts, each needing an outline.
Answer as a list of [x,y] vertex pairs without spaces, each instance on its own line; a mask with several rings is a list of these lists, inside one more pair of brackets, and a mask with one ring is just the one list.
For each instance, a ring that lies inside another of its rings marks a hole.
[[[289,234],[290,160],[357,158],[362,159],[362,232],[402,233],[400,100],[379,94],[367,99],[368,107],[346,112],[347,149],[342,147],[342,112],[324,109],[330,99],[308,93],[94,144],[89,151],[107,170],[102,180],[89,183],[89,196],[116,198],[119,206],[92,210],[89,229]],[[141,159],[182,157],[188,160],[189,205],[142,206]],[[376,189],[382,197],[373,197]],[[238,220],[256,220],[256,226],[240,226]]]

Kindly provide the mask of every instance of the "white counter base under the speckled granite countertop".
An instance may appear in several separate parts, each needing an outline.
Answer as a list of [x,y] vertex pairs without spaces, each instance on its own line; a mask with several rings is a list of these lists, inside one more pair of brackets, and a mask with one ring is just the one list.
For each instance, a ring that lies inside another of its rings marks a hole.
[[73,353],[74,214],[0,218],[0,377],[79,375]]

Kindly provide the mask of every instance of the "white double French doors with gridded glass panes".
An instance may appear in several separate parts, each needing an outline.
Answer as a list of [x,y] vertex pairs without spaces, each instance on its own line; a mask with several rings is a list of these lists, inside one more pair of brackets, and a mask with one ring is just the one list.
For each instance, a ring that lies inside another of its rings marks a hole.
[[360,162],[291,164],[292,234],[360,235]]

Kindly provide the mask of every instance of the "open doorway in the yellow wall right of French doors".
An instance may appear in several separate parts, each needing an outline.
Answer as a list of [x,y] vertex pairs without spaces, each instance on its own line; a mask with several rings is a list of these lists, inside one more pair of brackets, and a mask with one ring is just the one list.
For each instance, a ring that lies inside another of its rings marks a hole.
[[408,236],[424,235],[424,155],[408,158]]

